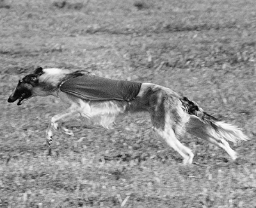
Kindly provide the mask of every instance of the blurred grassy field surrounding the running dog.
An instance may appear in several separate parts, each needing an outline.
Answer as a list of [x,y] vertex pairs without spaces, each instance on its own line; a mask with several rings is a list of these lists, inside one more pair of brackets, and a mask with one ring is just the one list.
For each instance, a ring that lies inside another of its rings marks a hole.
[[[0,1],[0,207],[255,207],[255,0]],[[191,166],[148,115],[44,145],[58,99],[6,100],[36,67],[168,86],[252,140],[237,161],[189,135]]]

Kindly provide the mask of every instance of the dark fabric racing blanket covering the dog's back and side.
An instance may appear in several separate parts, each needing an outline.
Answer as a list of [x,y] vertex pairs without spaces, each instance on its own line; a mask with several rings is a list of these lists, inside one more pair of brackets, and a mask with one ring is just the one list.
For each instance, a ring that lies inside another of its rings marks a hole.
[[70,78],[60,86],[62,92],[83,100],[133,100],[140,92],[141,83],[108,79],[90,74]]

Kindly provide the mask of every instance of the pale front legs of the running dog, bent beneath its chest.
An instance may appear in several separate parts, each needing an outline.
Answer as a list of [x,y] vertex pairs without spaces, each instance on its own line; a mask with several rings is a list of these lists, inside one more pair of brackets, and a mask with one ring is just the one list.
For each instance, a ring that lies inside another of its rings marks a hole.
[[71,130],[69,130],[65,127],[62,127],[62,125],[60,125],[59,122],[60,122],[60,120],[64,121],[64,120],[70,120],[72,118],[77,118],[79,115],[80,115],[79,112],[77,112],[76,110],[68,109],[65,113],[55,115],[51,118],[51,123],[49,124],[47,132],[46,132],[46,144],[48,145],[48,147],[50,147],[51,143],[52,143],[52,132],[53,131],[58,131],[58,129],[60,129],[65,134],[74,136],[74,134]]

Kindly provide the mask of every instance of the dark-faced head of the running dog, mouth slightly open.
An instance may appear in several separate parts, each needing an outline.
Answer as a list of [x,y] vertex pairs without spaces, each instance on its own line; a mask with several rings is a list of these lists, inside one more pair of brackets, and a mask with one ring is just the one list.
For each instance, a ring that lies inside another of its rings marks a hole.
[[8,102],[15,102],[16,100],[19,100],[17,105],[20,106],[23,100],[28,100],[33,97],[33,88],[38,86],[38,77],[43,73],[43,68],[36,68],[33,74],[28,74],[20,79],[16,88],[10,95]]

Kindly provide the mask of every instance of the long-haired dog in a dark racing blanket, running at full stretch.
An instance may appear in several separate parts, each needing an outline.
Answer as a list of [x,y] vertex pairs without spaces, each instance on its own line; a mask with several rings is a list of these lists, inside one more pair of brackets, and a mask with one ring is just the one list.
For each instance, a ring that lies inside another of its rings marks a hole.
[[107,79],[81,70],[36,68],[35,72],[20,79],[8,102],[18,100],[17,104],[21,105],[31,97],[48,95],[60,98],[68,106],[63,113],[51,118],[46,133],[49,147],[54,130],[74,135],[61,125],[64,122],[82,116],[92,124],[109,129],[117,115],[138,111],[150,113],[153,131],[179,152],[184,164],[191,164],[194,156],[178,140],[185,131],[223,148],[232,159],[236,159],[237,154],[227,141],[248,140],[237,127],[217,120],[195,102],[169,88]]

